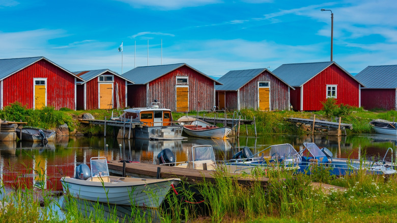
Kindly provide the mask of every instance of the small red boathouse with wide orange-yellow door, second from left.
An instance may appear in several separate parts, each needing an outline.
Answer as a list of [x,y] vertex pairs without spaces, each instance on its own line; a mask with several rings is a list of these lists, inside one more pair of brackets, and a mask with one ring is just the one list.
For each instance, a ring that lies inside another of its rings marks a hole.
[[127,83],[133,83],[109,69],[73,72],[84,81],[77,82],[77,109],[127,107]]

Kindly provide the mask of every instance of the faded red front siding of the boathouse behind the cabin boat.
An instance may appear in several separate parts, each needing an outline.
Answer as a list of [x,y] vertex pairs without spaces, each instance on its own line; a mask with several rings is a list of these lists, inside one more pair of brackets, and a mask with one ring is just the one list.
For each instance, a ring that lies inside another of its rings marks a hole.
[[178,76],[189,77],[189,110],[208,110],[215,105],[214,81],[187,66],[180,67],[150,82],[147,105],[157,99],[165,108],[176,111],[175,94]]

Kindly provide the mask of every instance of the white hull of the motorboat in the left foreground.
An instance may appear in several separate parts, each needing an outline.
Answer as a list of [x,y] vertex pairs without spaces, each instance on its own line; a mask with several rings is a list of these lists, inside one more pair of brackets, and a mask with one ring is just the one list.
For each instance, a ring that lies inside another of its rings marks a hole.
[[[121,179],[119,177],[110,178]],[[64,177],[61,182],[64,192],[74,198],[115,205],[158,208],[171,188],[171,184],[177,185],[180,181],[179,179],[130,179],[135,181],[94,182]]]

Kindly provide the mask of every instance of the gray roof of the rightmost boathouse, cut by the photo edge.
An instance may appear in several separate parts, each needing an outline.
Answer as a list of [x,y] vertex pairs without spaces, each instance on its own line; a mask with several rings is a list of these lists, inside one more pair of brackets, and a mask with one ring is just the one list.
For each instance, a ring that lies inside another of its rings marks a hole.
[[368,66],[354,76],[365,88],[397,88],[397,65]]

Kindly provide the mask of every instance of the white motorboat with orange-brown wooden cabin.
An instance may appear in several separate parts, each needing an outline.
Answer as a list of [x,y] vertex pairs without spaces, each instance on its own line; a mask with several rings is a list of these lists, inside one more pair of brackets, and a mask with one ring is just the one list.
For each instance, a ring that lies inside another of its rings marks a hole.
[[166,109],[160,102],[154,101],[149,107],[134,107],[124,110],[124,113],[114,121],[125,123],[142,123],[134,128],[134,137],[145,140],[184,140],[182,126],[173,120],[170,109]]

